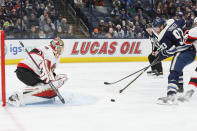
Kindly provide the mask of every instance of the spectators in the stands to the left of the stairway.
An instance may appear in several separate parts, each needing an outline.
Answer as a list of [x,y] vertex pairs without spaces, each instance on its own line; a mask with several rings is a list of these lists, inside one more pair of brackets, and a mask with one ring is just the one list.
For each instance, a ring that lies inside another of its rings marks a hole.
[[[66,38],[72,35],[72,26],[61,14],[56,15],[51,0],[1,0],[0,29],[6,38]],[[22,5],[22,10],[20,6]],[[22,20],[22,22],[21,22]],[[21,33],[22,32],[22,33]]]

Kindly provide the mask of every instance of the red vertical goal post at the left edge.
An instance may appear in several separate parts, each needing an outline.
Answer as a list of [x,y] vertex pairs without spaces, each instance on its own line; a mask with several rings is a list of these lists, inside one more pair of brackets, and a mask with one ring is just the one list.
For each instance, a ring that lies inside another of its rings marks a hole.
[[1,84],[1,90],[0,90],[0,101],[2,106],[6,105],[6,96],[5,96],[5,42],[4,42],[4,31],[0,30],[0,49],[1,49],[1,55],[0,55],[0,84]]

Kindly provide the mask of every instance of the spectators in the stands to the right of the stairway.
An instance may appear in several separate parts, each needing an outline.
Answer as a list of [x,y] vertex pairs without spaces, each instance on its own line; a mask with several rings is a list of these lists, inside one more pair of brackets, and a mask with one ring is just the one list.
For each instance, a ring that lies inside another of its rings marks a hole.
[[[90,0],[75,0],[89,8]],[[104,6],[106,0],[93,0],[95,6]],[[101,4],[99,4],[101,3]],[[166,19],[185,19],[186,29],[193,25],[197,16],[196,0],[111,0],[113,18],[100,20],[94,27],[94,38],[147,38],[147,23],[156,17]]]

